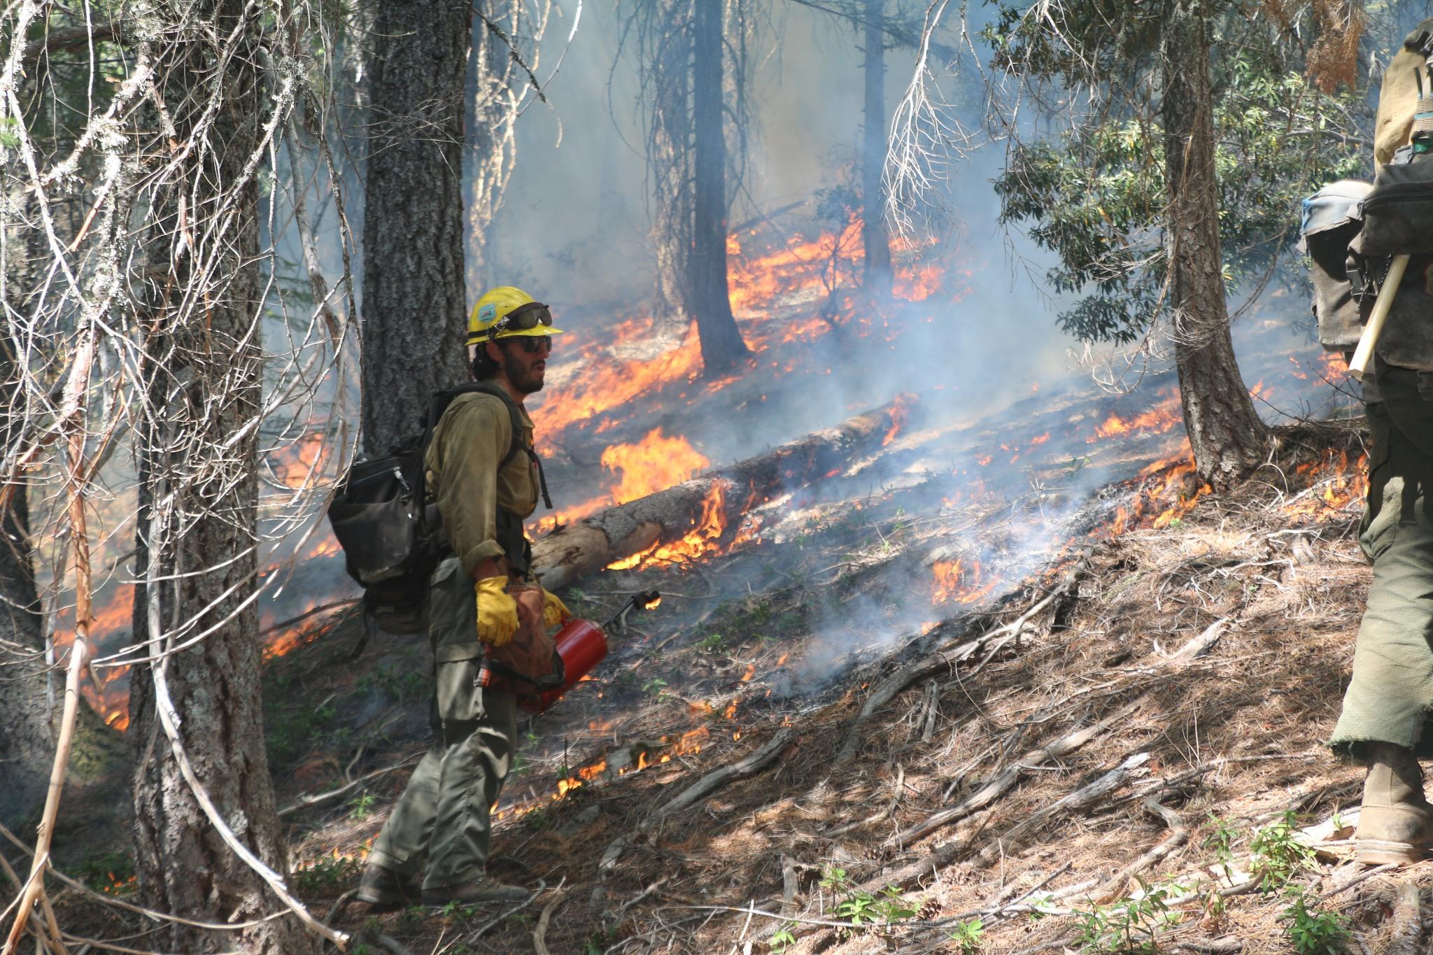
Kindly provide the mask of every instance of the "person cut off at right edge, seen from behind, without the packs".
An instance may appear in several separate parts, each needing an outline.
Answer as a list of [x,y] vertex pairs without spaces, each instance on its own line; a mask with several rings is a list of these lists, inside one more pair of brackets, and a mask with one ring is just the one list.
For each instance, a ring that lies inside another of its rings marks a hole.
[[[1430,36],[1426,20],[1384,73],[1374,137],[1380,169],[1426,152],[1412,140],[1422,136],[1413,122],[1422,92],[1433,90]],[[1350,246],[1351,261],[1363,238],[1367,228]],[[1387,262],[1370,258],[1364,268],[1377,276]],[[1413,255],[1369,371],[1369,497],[1358,543],[1373,560],[1373,583],[1330,746],[1369,767],[1357,861],[1383,865],[1417,862],[1433,838],[1419,766],[1419,757],[1433,757],[1433,733],[1424,732],[1433,709],[1433,256]]]

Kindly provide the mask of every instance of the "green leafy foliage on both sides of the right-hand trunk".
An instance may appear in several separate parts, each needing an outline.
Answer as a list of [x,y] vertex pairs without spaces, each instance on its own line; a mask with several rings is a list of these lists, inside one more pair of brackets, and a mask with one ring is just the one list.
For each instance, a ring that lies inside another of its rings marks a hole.
[[[996,179],[1003,225],[1058,256],[1046,281],[1082,295],[1059,316],[1083,341],[1141,338],[1165,288],[1165,137],[1159,116],[1162,4],[1065,4],[1059,31],[996,0],[993,66],[1060,117],[1017,130]],[[1211,3],[1214,137],[1224,275],[1230,288],[1281,278],[1300,200],[1326,182],[1367,175],[1366,90],[1318,90],[1305,46],[1248,4]],[[1307,24],[1300,24],[1305,26]]]

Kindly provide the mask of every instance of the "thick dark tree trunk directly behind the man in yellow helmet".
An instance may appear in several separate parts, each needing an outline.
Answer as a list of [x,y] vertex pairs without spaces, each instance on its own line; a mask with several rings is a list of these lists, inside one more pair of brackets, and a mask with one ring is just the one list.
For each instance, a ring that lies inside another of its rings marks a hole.
[[363,444],[387,451],[469,378],[463,80],[470,7],[384,0],[368,73]]

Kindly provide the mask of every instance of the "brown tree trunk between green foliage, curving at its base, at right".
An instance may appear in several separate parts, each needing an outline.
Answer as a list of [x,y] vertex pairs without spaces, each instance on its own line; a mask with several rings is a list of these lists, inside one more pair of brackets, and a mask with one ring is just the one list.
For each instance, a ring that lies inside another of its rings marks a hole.
[[1230,338],[1209,106],[1208,11],[1199,0],[1166,0],[1161,46],[1169,305],[1179,398],[1199,477],[1225,484],[1264,460],[1268,431],[1240,377]]

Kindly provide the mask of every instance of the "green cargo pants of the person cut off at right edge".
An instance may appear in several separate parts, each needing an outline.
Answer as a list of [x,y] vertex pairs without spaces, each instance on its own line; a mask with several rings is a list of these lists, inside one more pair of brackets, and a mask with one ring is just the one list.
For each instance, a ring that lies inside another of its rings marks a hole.
[[1433,389],[1420,394],[1409,368],[1380,364],[1377,378],[1358,535],[1373,586],[1331,746],[1354,759],[1367,742],[1433,756],[1433,733],[1423,732],[1433,710]]

